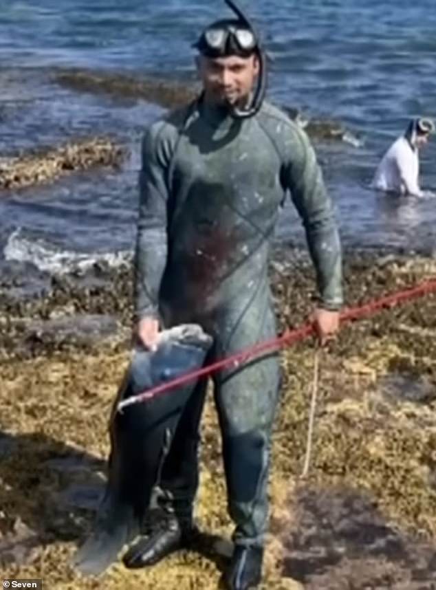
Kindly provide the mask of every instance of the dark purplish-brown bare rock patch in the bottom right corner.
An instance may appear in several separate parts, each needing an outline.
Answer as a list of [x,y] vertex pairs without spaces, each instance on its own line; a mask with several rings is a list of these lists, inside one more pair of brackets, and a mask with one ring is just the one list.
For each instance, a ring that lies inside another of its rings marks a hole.
[[360,491],[301,489],[292,512],[283,572],[305,588],[435,587],[436,545],[395,528]]

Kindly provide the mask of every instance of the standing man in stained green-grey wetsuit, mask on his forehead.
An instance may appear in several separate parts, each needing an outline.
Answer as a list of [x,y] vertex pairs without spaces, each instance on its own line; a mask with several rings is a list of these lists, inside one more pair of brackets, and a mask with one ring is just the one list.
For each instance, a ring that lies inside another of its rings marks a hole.
[[[207,363],[276,335],[268,252],[288,192],[316,270],[321,342],[337,331],[342,305],[340,239],[316,155],[304,131],[263,100],[259,36],[226,3],[237,18],[212,23],[195,43],[201,95],[144,135],[135,250],[140,341],[153,349],[162,328],[197,323],[214,338]],[[231,367],[213,382],[235,523],[224,584],[244,590],[261,580],[278,356]],[[160,474],[161,516],[128,549],[127,567],[152,565],[192,539],[205,395],[203,380],[171,433]]]

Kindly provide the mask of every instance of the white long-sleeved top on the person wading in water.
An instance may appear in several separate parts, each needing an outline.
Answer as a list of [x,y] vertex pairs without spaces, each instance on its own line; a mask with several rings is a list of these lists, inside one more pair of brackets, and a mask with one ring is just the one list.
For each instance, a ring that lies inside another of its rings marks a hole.
[[422,196],[419,188],[419,155],[404,135],[382,157],[371,186],[402,195]]

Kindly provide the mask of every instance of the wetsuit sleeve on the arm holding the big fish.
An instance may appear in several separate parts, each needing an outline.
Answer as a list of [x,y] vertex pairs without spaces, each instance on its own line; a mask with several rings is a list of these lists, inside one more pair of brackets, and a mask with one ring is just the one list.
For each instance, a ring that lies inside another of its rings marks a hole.
[[140,204],[135,248],[134,287],[137,319],[159,316],[159,291],[166,266],[168,146],[162,125],[153,124],[142,141]]

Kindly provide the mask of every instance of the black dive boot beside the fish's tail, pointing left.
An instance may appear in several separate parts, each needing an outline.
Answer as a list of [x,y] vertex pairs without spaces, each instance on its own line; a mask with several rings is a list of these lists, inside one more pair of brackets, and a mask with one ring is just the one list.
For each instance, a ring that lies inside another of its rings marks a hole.
[[188,547],[196,530],[192,523],[180,523],[175,514],[165,515],[127,549],[122,561],[129,568],[154,565],[174,551]]

